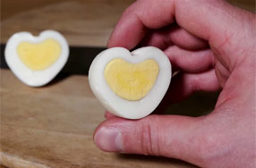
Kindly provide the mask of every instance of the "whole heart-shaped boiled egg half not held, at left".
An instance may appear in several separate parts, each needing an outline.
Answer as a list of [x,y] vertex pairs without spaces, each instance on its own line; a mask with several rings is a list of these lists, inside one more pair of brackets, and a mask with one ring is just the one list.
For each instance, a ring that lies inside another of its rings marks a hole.
[[30,87],[40,87],[53,80],[68,55],[67,41],[55,30],[45,30],[38,37],[29,32],[15,33],[5,47],[6,63]]

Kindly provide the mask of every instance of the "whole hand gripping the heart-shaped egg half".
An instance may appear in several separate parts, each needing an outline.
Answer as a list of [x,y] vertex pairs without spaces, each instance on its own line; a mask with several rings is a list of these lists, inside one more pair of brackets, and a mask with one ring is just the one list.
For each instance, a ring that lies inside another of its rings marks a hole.
[[220,0],[139,0],[123,13],[108,47],[157,46],[175,70],[171,103],[222,88],[212,113],[151,114],[125,120],[107,113],[94,133],[108,152],[162,155],[201,167],[255,167],[255,14]]

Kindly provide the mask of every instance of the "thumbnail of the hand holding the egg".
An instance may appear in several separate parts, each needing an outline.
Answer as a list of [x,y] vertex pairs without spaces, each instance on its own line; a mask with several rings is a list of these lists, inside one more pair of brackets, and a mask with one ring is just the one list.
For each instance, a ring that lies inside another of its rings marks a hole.
[[122,133],[115,128],[100,128],[94,137],[96,145],[107,152],[122,152]]

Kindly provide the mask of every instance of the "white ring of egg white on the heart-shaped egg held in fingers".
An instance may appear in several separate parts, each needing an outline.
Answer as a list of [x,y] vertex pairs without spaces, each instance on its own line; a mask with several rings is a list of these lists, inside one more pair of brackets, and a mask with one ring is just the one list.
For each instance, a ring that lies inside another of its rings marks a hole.
[[[149,93],[138,101],[126,100],[117,96],[107,85],[104,71],[111,60],[122,58],[128,63],[141,63],[153,59],[158,63],[159,71],[155,85]],[[141,47],[132,53],[123,47],[109,48],[96,56],[90,65],[90,88],[107,110],[127,119],[140,119],[152,113],[166,94],[172,77],[171,63],[157,47]]]

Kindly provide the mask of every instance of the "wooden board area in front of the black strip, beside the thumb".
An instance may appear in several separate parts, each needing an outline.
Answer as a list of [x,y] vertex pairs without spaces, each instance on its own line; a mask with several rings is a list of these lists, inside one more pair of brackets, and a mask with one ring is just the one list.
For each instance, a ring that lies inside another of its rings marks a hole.
[[102,152],[93,143],[104,108],[86,76],[30,88],[1,70],[0,163],[9,168],[195,167],[174,159]]

